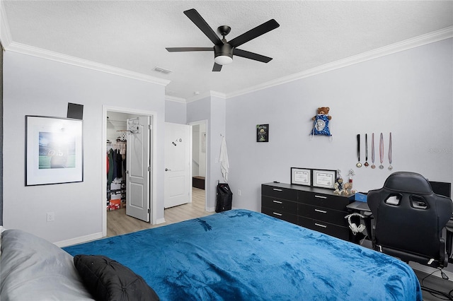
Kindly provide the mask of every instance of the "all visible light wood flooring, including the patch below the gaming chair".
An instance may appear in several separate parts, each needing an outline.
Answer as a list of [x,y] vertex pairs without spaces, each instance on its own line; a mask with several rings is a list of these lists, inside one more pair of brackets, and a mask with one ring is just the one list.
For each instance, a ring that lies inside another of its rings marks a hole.
[[[190,220],[191,218],[209,216],[212,213],[213,212],[205,211],[205,190],[193,188],[192,203],[165,209],[164,217],[166,223],[159,225],[151,225],[150,223],[145,223],[142,220],[126,216],[125,209],[108,211],[107,236],[110,237],[149,228],[161,227],[163,225],[178,223],[183,220]],[[428,274],[421,271],[415,271],[415,274],[417,275],[420,284],[427,288],[432,288],[444,293],[449,293],[450,290],[453,290],[453,281],[447,281],[437,276],[426,277]],[[436,272],[436,274],[438,275],[440,272]],[[425,290],[423,290],[422,293],[423,301],[449,300],[446,297],[432,295]]]

